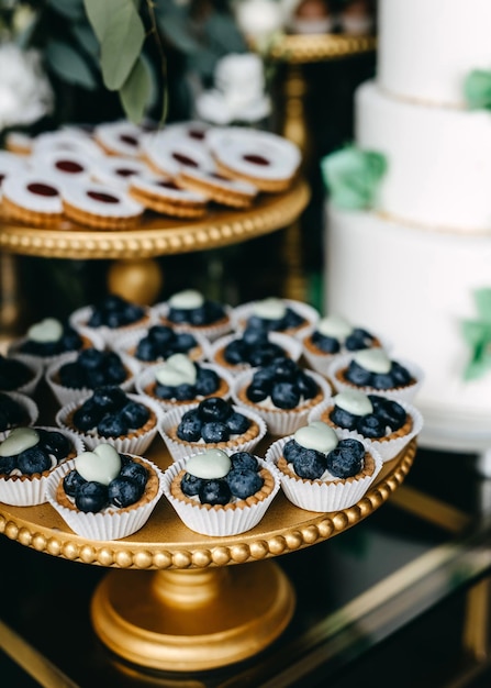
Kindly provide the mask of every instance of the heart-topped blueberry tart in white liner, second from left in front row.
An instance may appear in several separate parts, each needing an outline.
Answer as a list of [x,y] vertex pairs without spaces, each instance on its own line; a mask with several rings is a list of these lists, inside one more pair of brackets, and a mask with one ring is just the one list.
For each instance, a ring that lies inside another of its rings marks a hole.
[[100,443],[60,466],[46,497],[77,535],[109,541],[141,530],[163,487],[163,471],[152,462]]

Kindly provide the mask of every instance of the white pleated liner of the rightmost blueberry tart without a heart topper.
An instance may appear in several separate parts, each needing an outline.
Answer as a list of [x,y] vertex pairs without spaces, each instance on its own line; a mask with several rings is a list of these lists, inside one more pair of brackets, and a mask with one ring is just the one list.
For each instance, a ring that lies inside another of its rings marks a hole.
[[[234,402],[241,407],[241,409],[250,409],[255,411],[258,415],[260,415],[267,425],[268,432],[272,435],[291,435],[302,425],[306,425],[306,419],[309,413],[316,406],[308,406],[305,402],[304,408],[300,409],[277,409],[277,408],[268,408],[266,406],[260,406],[259,403],[245,403],[238,396],[239,390],[247,387],[254,376],[254,368],[250,370],[246,370],[237,375],[234,382],[234,388],[232,391],[232,399]],[[319,403],[322,403],[326,399],[331,398],[331,386],[328,381],[319,373],[313,370],[305,370],[309,377],[313,378],[322,392],[322,399]],[[308,400],[309,401],[309,400]]]

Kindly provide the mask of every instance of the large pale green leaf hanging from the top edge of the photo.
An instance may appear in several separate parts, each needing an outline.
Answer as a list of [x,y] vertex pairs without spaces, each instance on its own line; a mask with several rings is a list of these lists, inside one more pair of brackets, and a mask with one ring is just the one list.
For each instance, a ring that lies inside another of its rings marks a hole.
[[133,0],[83,0],[101,44],[101,70],[109,90],[129,79],[145,41],[145,29]]

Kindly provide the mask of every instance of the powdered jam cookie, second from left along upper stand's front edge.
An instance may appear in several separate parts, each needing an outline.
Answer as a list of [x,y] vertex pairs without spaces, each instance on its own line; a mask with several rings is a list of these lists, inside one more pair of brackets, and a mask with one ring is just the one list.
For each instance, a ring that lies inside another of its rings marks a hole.
[[94,181],[64,187],[63,208],[69,220],[99,230],[133,228],[144,210],[124,191]]

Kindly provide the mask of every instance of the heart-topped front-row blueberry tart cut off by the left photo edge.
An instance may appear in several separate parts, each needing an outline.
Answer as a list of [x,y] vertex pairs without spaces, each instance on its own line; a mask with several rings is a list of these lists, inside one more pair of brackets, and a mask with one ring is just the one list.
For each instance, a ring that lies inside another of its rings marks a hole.
[[16,507],[44,503],[48,477],[82,451],[82,441],[65,429],[10,430],[0,442],[0,501]]

